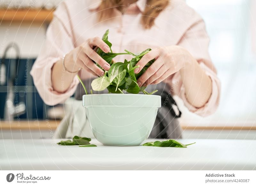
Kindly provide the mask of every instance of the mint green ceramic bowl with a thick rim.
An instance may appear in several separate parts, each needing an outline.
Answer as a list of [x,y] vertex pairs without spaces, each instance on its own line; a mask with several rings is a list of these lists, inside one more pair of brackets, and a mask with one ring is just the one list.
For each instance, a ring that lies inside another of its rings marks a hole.
[[137,146],[146,140],[161,107],[161,96],[144,94],[83,95],[94,137],[103,145]]

